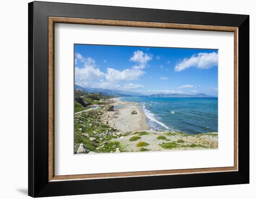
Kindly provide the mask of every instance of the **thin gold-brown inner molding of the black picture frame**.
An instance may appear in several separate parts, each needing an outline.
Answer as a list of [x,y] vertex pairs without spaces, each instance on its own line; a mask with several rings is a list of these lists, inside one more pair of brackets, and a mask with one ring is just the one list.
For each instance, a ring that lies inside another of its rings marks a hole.
[[[54,23],[233,32],[234,33],[234,166],[55,176],[54,175]],[[121,178],[121,177],[238,171],[238,27],[203,26],[203,25],[123,21],[123,20],[98,20],[98,19],[48,17],[48,100],[49,100],[48,101],[48,153],[49,153],[48,154],[48,181],[49,182],[57,181],[57,180],[102,179],[102,178]]]

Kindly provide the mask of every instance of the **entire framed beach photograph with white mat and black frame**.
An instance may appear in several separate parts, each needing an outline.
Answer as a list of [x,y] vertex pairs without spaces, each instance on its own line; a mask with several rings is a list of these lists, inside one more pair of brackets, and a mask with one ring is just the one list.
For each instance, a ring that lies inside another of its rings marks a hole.
[[249,183],[249,16],[28,4],[28,194]]

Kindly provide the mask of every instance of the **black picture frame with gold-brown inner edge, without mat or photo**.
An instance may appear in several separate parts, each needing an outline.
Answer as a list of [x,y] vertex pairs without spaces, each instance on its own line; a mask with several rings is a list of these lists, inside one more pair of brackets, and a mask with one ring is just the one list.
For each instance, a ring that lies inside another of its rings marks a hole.
[[[234,166],[55,175],[55,23],[234,33],[234,74],[230,74],[234,76]],[[29,196],[46,197],[249,183],[248,15],[35,1],[28,4],[28,25]]]

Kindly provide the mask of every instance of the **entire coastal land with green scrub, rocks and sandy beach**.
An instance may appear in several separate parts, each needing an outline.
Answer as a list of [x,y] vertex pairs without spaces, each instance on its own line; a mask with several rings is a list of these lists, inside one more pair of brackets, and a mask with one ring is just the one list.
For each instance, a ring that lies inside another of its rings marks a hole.
[[100,108],[75,114],[74,141],[76,154],[216,149],[218,133],[149,130],[137,103],[114,98]]

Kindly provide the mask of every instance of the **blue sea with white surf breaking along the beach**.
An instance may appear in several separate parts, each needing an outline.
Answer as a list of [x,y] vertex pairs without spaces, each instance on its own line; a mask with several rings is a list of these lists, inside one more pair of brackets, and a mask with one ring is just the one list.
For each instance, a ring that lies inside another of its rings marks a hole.
[[218,132],[218,98],[123,97],[120,100],[139,103],[154,130]]

